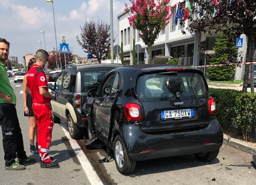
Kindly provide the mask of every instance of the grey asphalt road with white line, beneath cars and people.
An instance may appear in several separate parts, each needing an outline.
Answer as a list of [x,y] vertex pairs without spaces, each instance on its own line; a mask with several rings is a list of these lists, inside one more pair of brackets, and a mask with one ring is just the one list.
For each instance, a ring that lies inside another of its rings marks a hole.
[[107,155],[104,149],[87,150],[82,140],[70,138],[63,123],[54,125],[49,151],[60,168],[42,169],[39,156],[29,152],[29,122],[23,116],[22,83],[12,81],[11,84],[17,96],[16,108],[25,150],[37,162],[27,165],[23,171],[4,170],[3,143],[0,142],[0,185],[253,185],[256,182],[254,168],[227,166],[250,165],[252,155],[227,145],[222,145],[212,162],[200,162],[193,155],[176,156],[138,162],[133,173],[122,175],[116,170],[113,159],[99,163],[99,159]]

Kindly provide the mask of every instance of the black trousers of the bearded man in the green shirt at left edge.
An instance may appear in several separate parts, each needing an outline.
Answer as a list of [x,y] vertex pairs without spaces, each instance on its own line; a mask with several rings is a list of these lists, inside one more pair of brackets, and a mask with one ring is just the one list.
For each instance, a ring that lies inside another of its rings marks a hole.
[[2,126],[6,166],[15,162],[16,157],[26,159],[23,137],[14,104],[0,104],[0,125]]

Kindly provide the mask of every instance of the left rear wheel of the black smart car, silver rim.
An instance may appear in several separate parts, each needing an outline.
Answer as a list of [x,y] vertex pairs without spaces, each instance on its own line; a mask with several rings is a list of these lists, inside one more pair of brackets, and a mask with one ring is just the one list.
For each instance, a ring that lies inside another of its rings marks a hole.
[[122,138],[117,135],[114,140],[114,158],[117,170],[122,173],[131,173],[136,168],[136,161],[132,160],[126,151]]

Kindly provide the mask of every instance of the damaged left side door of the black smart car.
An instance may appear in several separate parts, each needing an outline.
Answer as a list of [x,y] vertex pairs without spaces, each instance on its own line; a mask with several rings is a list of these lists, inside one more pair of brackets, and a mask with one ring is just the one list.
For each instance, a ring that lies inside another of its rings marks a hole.
[[98,96],[95,98],[93,110],[97,135],[107,143],[111,134],[113,105],[117,98],[119,74],[109,74],[105,79],[105,81],[102,81]]

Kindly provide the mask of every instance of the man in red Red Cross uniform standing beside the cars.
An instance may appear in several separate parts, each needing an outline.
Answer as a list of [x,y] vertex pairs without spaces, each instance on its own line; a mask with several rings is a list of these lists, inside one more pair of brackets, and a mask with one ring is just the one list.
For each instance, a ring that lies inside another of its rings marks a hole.
[[44,66],[48,63],[49,54],[39,49],[35,54],[35,64],[27,73],[27,87],[31,91],[32,109],[38,126],[38,151],[41,157],[41,168],[58,168],[56,162],[52,162],[48,150],[52,141],[52,116],[50,100],[55,98],[48,92]]

